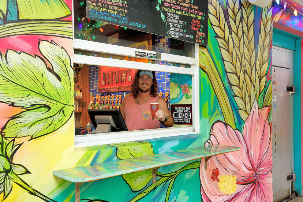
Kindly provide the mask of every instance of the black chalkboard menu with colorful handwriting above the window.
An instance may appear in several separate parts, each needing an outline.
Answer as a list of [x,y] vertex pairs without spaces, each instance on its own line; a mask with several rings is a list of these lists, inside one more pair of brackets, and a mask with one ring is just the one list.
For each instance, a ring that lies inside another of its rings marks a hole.
[[207,45],[207,0],[87,0],[87,18]]

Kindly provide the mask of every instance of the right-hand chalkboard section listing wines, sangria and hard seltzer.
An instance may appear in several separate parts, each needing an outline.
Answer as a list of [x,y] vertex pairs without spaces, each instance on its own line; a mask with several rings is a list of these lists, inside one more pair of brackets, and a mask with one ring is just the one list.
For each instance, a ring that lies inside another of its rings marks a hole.
[[[201,0],[195,0],[198,2]],[[207,9],[193,0],[161,0],[159,10],[171,38],[207,43]],[[183,39],[185,38],[185,39]]]

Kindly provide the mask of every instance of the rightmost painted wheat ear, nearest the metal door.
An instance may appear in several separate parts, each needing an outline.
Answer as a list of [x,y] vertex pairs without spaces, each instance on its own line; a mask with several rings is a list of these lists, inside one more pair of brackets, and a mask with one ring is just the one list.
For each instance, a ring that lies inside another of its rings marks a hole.
[[261,92],[264,90],[266,85],[267,69],[270,57],[270,47],[272,41],[272,4],[264,8],[262,11],[259,42],[257,49],[257,59],[256,59],[256,75],[255,77],[255,93],[256,98],[259,99]]

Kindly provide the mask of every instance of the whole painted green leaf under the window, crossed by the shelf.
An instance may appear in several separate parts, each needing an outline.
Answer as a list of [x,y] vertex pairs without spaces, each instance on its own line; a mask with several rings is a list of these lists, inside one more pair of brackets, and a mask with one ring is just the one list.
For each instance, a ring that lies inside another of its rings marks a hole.
[[[146,141],[132,141],[109,145],[117,148],[116,156],[118,159],[130,159],[154,154],[151,144]],[[143,189],[152,179],[152,169],[123,174],[122,178],[133,192],[137,192]]]

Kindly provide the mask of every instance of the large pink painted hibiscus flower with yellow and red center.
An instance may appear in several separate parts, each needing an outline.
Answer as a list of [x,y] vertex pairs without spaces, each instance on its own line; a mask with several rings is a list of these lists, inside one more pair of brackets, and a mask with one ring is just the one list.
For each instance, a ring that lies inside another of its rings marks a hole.
[[259,109],[255,101],[244,123],[243,136],[238,129],[233,130],[224,122],[213,124],[210,138],[204,145],[231,145],[240,147],[240,150],[213,156],[208,160],[207,170],[201,161],[203,201],[272,201],[272,145],[268,113],[269,107]]

